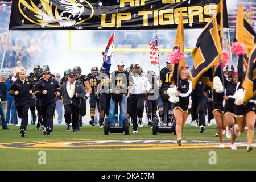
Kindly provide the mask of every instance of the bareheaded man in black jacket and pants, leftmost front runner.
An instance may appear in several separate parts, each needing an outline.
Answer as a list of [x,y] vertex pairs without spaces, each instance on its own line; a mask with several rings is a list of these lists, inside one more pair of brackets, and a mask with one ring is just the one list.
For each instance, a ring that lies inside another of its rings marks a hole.
[[30,109],[34,89],[34,81],[27,78],[26,71],[22,69],[19,72],[19,78],[11,84],[8,90],[8,93],[11,96],[14,96],[18,117],[22,119],[20,126],[20,134],[22,137],[25,137],[28,121],[28,109]]

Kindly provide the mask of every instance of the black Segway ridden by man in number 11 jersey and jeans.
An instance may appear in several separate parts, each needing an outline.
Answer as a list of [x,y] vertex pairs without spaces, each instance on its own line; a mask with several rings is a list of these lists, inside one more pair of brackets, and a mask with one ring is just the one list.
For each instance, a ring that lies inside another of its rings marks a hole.
[[108,135],[110,133],[123,133],[129,135],[129,118],[126,117],[123,126],[118,125],[118,102],[115,102],[115,123],[114,126],[109,125],[109,118],[104,119],[104,134]]

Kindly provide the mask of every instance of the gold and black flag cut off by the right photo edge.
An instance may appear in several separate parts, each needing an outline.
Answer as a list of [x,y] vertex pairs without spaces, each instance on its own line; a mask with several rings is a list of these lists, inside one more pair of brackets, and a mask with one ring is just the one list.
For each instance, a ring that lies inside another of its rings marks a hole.
[[245,89],[245,97],[243,98],[243,103],[247,102],[256,96],[256,46],[251,51],[249,56],[248,68],[243,81],[242,87]]

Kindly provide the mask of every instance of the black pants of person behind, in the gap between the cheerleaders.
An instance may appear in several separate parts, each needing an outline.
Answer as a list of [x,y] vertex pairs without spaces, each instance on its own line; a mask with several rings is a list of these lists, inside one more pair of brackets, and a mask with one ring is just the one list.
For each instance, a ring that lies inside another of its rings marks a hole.
[[199,126],[205,126],[205,115],[204,115],[204,108],[205,108],[205,100],[202,99],[192,99],[191,105],[191,115],[192,121],[199,117]]

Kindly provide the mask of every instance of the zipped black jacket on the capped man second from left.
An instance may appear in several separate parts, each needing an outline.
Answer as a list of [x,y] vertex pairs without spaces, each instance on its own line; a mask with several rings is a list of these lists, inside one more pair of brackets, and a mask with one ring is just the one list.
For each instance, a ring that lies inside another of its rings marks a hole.
[[[47,94],[43,94],[43,90],[47,90]],[[35,86],[35,96],[41,98],[41,105],[55,104],[55,92],[60,92],[60,85],[57,80],[39,80]]]

